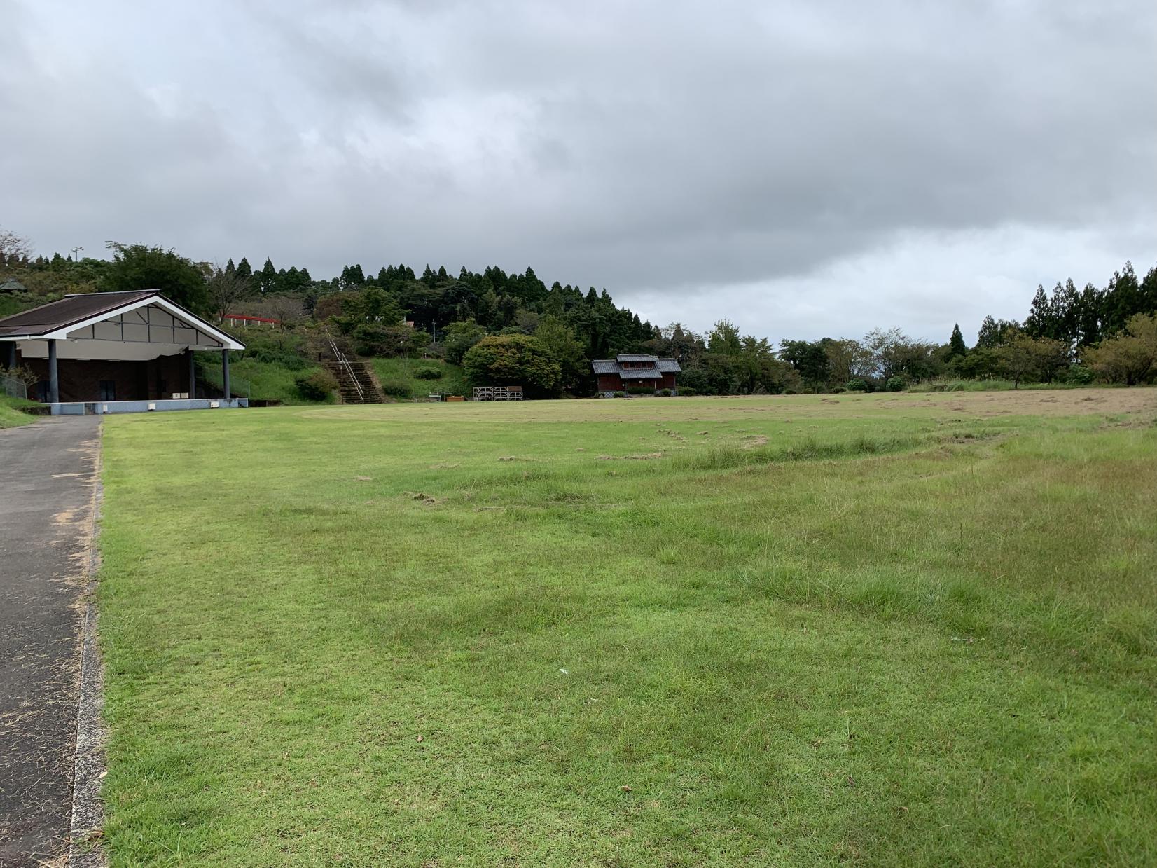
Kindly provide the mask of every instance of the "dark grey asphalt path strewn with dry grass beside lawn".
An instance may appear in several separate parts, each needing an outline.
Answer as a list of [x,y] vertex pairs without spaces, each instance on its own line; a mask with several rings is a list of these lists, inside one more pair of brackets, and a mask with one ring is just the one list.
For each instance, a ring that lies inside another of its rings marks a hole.
[[0,431],[0,866],[65,851],[100,417]]

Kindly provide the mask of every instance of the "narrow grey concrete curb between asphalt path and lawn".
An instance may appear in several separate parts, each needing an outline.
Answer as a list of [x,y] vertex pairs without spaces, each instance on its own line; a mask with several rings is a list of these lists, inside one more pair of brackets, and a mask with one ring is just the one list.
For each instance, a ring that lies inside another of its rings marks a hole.
[[96,584],[101,553],[96,545],[100,529],[102,437],[104,425],[97,428],[96,461],[93,469],[93,500],[89,521],[88,564],[84,576],[84,616],[80,642],[80,696],[76,709],[76,756],[73,762],[73,804],[68,834],[68,868],[104,868],[108,865],[100,846],[104,807],[101,784],[104,780],[104,665],[96,645]]

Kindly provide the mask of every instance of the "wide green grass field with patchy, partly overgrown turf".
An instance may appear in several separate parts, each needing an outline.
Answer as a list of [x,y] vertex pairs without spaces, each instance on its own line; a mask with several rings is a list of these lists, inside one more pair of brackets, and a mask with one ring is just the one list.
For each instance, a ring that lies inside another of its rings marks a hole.
[[109,418],[112,863],[1157,863],[1155,415]]

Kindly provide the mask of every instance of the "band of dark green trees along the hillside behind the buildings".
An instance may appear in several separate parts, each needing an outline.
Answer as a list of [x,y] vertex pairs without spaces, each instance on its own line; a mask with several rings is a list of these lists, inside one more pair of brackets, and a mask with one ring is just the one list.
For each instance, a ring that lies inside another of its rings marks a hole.
[[702,334],[679,323],[659,328],[617,306],[606,289],[547,286],[529,267],[455,274],[355,264],[315,279],[268,258],[253,269],[245,257],[211,265],[156,247],[109,248],[109,259],[32,257],[23,238],[0,231],[0,315],[67,293],[159,288],[218,321],[251,312],[287,328],[332,329],[363,355],[442,356],[465,362],[474,378],[485,376],[480,354],[526,360],[539,395],[591,395],[590,360],[625,352],[677,359],[680,391],[703,395],[898,390],[944,377],[1133,384],[1157,374],[1157,269],[1140,278],[1128,263],[1104,288],[1077,289],[1071,280],[1052,293],[1038,287],[1023,322],[986,317],[971,346],[959,325],[943,344],[875,329],[775,346],[725,317]]

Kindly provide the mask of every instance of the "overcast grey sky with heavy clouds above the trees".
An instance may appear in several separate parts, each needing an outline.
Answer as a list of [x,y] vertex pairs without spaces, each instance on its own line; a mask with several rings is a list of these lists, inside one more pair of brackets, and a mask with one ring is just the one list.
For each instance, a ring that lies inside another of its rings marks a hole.
[[0,0],[0,226],[972,339],[1157,264],[1152,0]]

